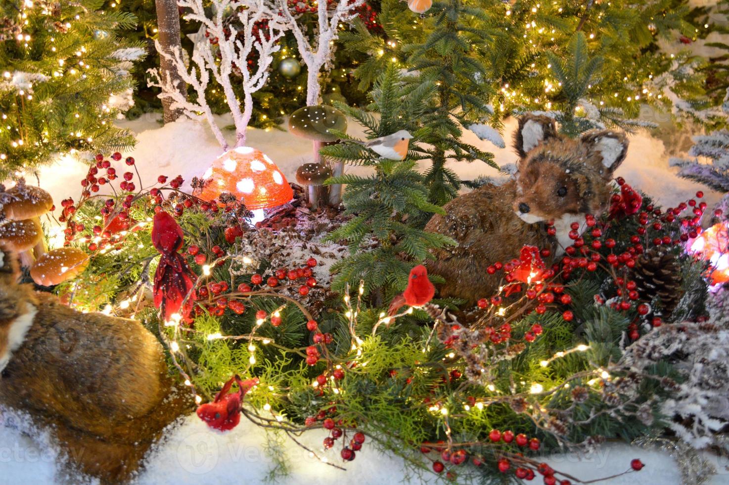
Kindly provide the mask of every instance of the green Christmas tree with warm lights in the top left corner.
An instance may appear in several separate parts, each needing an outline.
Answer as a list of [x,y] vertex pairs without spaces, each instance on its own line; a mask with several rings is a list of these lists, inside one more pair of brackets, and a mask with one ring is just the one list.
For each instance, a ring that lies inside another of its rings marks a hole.
[[128,148],[114,126],[130,107],[135,42],[117,36],[135,18],[103,1],[8,1],[0,10],[0,179],[55,155]]

